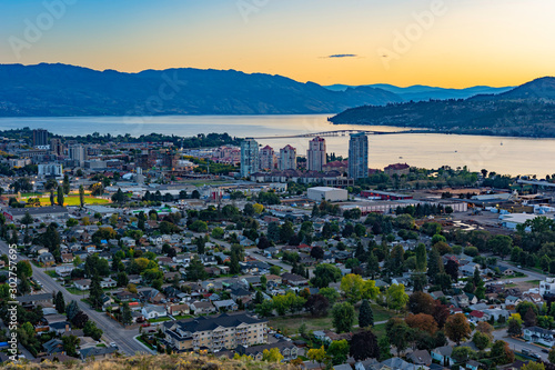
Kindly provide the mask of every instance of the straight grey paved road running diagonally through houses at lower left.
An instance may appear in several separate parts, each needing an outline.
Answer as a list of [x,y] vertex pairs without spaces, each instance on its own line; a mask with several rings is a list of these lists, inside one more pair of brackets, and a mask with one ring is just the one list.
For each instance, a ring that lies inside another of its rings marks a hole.
[[[3,241],[0,241],[0,253],[8,254],[8,244]],[[18,256],[18,261],[19,260],[27,260],[27,258]],[[36,266],[33,266],[33,277],[42,283],[42,288],[46,292],[61,291],[63,298],[65,299],[65,303],[69,303],[72,300],[77,301],[79,308],[84,313],[87,313],[90,319],[97,322],[98,328],[102,329],[102,331],[104,332],[103,339],[109,343],[118,343],[121,352],[130,356],[135,354],[137,352],[151,352],[133,339],[133,337],[139,334],[139,329],[124,329],[118,322],[110,319],[104,312],[97,312],[95,310],[91,309],[87,303],[81,302],[83,296],[70,293],[50,276],[44,273],[42,269],[37,268]]]

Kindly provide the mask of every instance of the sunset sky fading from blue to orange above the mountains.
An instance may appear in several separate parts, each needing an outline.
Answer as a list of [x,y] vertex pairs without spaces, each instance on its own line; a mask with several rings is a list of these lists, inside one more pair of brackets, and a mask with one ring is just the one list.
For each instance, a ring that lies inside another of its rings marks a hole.
[[555,76],[554,13],[553,0],[0,0],[0,63],[516,86]]

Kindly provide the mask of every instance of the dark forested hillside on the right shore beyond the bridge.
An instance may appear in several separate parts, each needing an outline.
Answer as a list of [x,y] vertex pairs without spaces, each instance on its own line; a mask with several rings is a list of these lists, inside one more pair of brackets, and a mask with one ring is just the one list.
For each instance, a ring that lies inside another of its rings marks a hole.
[[333,123],[428,128],[436,132],[555,138],[555,78],[524,83],[500,94],[466,100],[359,107]]

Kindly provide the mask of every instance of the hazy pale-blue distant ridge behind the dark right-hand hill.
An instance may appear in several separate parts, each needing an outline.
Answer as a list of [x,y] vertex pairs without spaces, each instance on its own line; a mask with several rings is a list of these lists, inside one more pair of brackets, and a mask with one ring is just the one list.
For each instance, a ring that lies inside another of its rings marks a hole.
[[503,88],[492,88],[488,86],[475,86],[465,89],[445,89],[435,88],[423,84],[414,84],[406,88],[400,88],[387,83],[374,83],[374,84],[362,84],[362,86],[349,86],[349,84],[332,84],[326,86],[326,89],[332,91],[345,91],[349,88],[360,88],[360,87],[371,87],[375,89],[382,89],[390,91],[401,97],[403,101],[426,101],[426,100],[446,100],[446,99],[467,99],[477,94],[496,94],[509,91],[514,87],[503,87]]

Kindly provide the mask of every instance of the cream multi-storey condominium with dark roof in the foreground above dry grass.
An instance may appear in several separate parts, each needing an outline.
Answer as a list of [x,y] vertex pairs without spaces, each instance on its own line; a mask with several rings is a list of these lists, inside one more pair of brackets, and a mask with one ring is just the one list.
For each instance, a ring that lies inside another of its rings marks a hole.
[[199,317],[163,323],[165,340],[178,351],[235,349],[268,343],[268,320],[245,313]]

